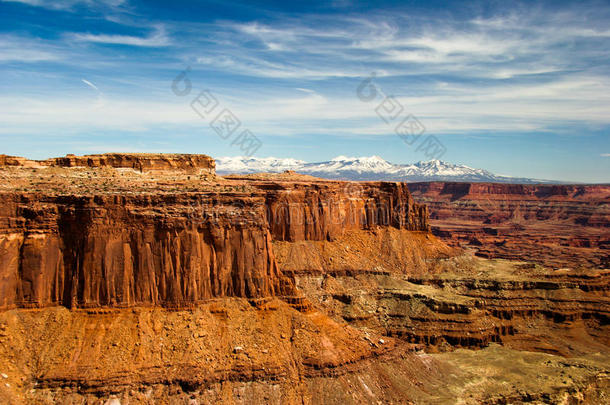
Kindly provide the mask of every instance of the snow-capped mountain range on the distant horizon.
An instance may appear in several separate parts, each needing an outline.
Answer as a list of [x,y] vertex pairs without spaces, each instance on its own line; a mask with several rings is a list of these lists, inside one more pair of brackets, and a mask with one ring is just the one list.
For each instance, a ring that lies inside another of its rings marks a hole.
[[294,170],[302,174],[335,180],[386,181],[470,181],[499,183],[549,183],[549,181],[496,175],[487,170],[473,169],[440,160],[413,164],[394,164],[379,156],[338,156],[326,162],[308,163],[297,159],[274,157],[221,157],[216,159],[219,174],[281,173]]

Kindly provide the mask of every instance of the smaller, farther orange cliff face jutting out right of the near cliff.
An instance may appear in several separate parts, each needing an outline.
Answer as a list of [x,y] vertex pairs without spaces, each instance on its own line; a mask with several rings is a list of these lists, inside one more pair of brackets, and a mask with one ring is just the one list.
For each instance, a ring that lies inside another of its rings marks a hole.
[[386,226],[428,231],[428,213],[403,183],[257,183],[266,190],[274,240],[333,240],[350,230]]

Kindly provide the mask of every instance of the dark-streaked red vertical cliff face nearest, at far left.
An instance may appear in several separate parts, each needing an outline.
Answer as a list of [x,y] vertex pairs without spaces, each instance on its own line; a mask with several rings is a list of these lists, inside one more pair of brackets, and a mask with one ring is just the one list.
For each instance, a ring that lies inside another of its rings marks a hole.
[[201,195],[0,199],[0,307],[185,307],[290,292],[254,199],[241,201],[246,212]]

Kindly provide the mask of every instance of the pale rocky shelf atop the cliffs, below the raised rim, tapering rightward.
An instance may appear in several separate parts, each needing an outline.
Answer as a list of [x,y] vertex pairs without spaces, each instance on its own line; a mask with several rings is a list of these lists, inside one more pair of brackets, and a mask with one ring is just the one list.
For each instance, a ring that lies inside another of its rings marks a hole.
[[[61,196],[215,193],[260,196],[261,190],[326,188],[353,192],[378,182],[318,179],[300,174],[221,177],[208,171],[139,171],[114,167],[0,166],[0,193]],[[355,187],[355,189],[354,189]]]

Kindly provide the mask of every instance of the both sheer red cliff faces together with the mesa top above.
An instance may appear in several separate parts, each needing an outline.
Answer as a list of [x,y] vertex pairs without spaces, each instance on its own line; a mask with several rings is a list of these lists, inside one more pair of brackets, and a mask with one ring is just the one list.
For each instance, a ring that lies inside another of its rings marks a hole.
[[[184,159],[197,160],[187,155],[162,159],[182,177],[131,174],[121,185],[129,173],[95,166],[147,167],[141,155],[96,156],[64,162],[80,168],[27,169],[45,191],[0,193],[0,308],[182,308],[293,295],[272,240],[332,240],[374,226],[428,230],[426,207],[400,183],[201,181],[182,170]],[[15,179],[32,187],[23,173]]]

